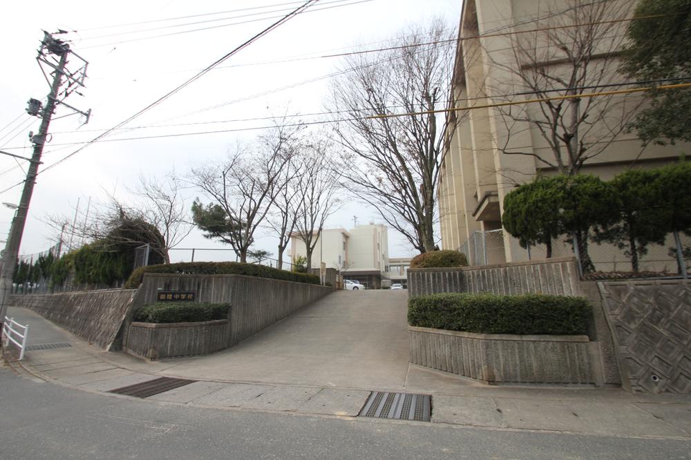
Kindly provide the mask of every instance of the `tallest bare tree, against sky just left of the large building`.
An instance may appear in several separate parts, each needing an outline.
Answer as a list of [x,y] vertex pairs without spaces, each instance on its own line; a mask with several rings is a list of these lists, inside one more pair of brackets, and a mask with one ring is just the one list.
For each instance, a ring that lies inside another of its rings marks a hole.
[[[437,20],[391,46],[347,57],[352,72],[332,87],[334,107],[347,114],[336,128],[346,149],[341,182],[422,253],[435,245],[444,138],[457,124],[434,112],[451,94],[455,33]],[[368,117],[395,113],[408,115]]]

